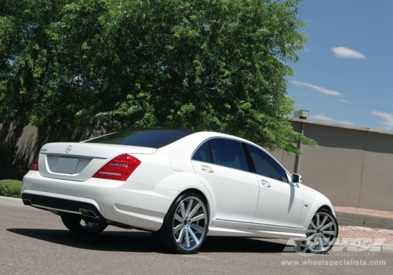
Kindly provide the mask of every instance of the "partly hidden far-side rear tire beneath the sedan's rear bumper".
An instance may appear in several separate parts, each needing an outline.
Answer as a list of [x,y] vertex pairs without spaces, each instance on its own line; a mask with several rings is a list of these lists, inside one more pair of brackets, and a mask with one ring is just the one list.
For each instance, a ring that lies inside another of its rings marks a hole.
[[78,234],[95,235],[107,228],[107,224],[90,222],[77,217],[61,216],[61,219],[67,229]]

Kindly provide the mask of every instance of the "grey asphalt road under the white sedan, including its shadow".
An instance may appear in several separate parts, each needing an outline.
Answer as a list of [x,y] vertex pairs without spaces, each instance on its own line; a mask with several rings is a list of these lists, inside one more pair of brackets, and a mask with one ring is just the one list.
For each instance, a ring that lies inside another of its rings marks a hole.
[[304,256],[284,248],[284,240],[207,238],[199,253],[173,255],[149,232],[108,227],[80,236],[52,213],[0,201],[0,274],[392,274],[392,252]]

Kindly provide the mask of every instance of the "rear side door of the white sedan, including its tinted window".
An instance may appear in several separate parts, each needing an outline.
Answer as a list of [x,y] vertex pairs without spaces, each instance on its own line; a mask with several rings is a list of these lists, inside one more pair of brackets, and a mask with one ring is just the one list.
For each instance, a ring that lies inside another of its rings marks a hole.
[[218,137],[208,140],[194,152],[192,165],[211,191],[213,225],[251,229],[260,186],[248,171],[241,143]]

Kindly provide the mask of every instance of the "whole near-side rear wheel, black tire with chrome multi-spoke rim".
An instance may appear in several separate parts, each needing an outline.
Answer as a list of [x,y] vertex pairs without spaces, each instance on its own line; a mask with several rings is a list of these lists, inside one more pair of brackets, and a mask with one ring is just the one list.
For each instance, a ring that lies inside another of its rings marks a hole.
[[153,232],[157,243],[174,253],[190,254],[201,247],[208,232],[208,212],[204,199],[187,193],[176,199],[158,232]]

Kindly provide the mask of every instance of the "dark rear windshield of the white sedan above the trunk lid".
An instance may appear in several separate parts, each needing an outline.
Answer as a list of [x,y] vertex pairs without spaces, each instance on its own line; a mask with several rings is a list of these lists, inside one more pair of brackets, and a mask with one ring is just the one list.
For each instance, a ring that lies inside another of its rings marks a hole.
[[161,148],[192,133],[195,131],[168,128],[131,128],[102,135],[102,137],[86,140],[86,142]]

